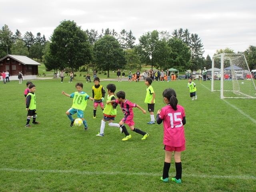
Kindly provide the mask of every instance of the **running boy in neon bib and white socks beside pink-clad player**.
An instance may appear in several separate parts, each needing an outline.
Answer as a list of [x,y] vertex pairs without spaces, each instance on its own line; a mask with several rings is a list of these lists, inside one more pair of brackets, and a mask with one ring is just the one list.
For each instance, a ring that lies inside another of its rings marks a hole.
[[[114,92],[116,91],[116,86],[114,84],[108,84],[107,89],[108,89],[107,101],[116,100],[115,94],[114,94]],[[107,121],[109,126],[120,128],[120,125],[118,123],[113,123],[113,120],[115,120],[115,116],[116,116],[117,105],[118,105],[117,103],[106,104],[103,110],[103,119],[101,120],[100,132],[96,136],[104,136],[104,129]],[[120,130],[122,132],[121,128]]]

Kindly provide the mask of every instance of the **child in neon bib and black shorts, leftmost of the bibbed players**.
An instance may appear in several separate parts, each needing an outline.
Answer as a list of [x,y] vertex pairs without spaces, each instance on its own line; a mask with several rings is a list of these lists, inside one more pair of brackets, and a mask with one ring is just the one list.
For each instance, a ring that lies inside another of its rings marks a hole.
[[31,127],[29,124],[31,117],[33,116],[32,124],[39,124],[39,122],[36,122],[36,86],[34,84],[30,84],[28,86],[30,92],[27,94],[26,97],[26,110],[28,111],[27,114],[27,122],[25,127]]

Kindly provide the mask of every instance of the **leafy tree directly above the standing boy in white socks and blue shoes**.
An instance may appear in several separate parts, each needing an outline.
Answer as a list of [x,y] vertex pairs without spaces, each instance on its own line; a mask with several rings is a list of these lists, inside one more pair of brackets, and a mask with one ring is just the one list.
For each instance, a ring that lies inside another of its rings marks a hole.
[[159,34],[157,30],[152,32],[147,32],[139,38],[139,44],[135,47],[135,52],[140,57],[140,61],[153,66],[157,65],[158,62],[158,52],[157,46],[159,42]]

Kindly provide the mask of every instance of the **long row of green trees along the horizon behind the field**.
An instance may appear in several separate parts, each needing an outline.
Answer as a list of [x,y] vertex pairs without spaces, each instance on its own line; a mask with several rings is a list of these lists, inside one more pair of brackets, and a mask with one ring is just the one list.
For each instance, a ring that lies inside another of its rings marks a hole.
[[[109,71],[141,68],[176,68],[180,71],[211,68],[209,55],[203,57],[204,45],[198,34],[190,34],[188,29],[167,31],[153,30],[136,38],[132,31],[121,30],[119,33],[109,28],[82,30],[76,22],[64,20],[54,29],[49,40],[38,32],[36,37],[31,32],[23,36],[17,29],[15,34],[4,25],[0,29],[0,58],[8,54],[24,55],[43,61],[49,70],[69,69],[71,71],[96,70]],[[218,53],[234,53],[230,48],[216,50]],[[250,68],[255,68],[256,47],[249,46],[243,52]]]

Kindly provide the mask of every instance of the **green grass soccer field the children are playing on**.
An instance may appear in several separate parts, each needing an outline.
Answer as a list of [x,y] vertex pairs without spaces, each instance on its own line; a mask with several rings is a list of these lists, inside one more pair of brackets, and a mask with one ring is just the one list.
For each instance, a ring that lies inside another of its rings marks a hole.
[[[101,77],[100,77],[101,78]],[[178,104],[186,112],[186,150],[182,152],[182,184],[160,181],[164,165],[163,125],[148,125],[150,114],[134,109],[137,128],[149,133],[146,140],[129,131],[132,138],[106,124],[105,136],[97,137],[103,117],[98,107],[93,119],[93,101],[88,101],[84,117],[89,130],[70,127],[65,112],[72,99],[61,94],[73,93],[76,82],[92,95],[92,83],[76,78],[73,83],[60,79],[32,80],[36,85],[38,125],[25,128],[24,89],[18,84],[0,82],[2,123],[0,126],[1,192],[205,192],[256,191],[256,113],[255,99],[220,99],[211,92],[211,82],[194,81],[198,99],[192,101],[187,80],[153,82],[156,111],[165,106],[162,92],[174,88]],[[147,110],[144,82],[102,81],[116,84],[126,98]],[[118,106],[115,122],[122,111]],[[76,118],[76,115],[73,116]],[[127,126],[128,127],[128,126]],[[175,176],[172,160],[169,172]]]

